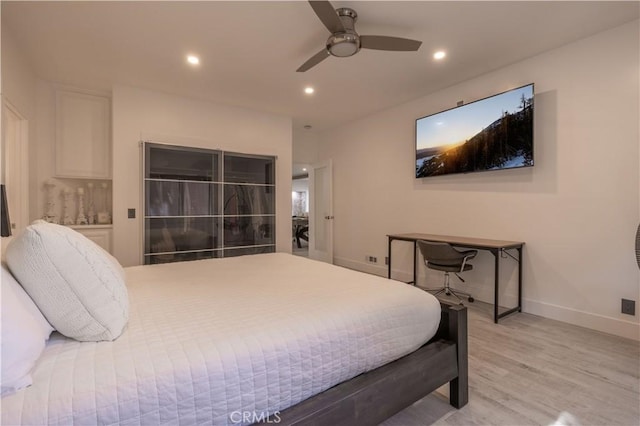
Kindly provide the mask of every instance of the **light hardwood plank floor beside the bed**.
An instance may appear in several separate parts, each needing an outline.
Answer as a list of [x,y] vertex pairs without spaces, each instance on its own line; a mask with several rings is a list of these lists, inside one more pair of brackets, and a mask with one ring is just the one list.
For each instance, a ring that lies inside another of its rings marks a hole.
[[441,388],[383,423],[640,425],[640,343],[517,313],[469,306],[469,404]]

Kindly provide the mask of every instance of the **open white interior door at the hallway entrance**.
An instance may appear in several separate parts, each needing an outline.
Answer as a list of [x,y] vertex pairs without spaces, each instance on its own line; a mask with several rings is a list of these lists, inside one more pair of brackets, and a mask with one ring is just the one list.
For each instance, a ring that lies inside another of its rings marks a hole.
[[309,257],[333,263],[333,170],[331,160],[309,169]]

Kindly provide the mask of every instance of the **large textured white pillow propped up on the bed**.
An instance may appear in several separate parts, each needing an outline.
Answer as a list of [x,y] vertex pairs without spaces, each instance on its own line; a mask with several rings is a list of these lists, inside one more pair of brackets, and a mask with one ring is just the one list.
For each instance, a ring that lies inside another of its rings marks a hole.
[[79,232],[36,221],[7,247],[13,275],[60,333],[81,341],[113,340],[129,320],[124,270]]

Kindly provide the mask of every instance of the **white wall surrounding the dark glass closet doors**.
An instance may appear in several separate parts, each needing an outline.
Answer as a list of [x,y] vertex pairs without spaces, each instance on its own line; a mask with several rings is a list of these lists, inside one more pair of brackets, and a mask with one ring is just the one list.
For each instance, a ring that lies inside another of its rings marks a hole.
[[[140,264],[141,155],[139,141],[275,155],[276,249],[291,252],[292,130],[289,117],[222,106],[139,88],[113,88],[114,255]],[[136,219],[127,219],[135,208]]]

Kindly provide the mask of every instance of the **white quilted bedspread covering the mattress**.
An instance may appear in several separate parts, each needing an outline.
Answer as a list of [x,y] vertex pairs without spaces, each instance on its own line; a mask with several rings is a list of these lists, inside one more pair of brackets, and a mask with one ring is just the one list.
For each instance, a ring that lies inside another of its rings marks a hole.
[[126,274],[124,334],[54,333],[3,425],[251,423],[414,351],[440,320],[415,287],[283,253]]

